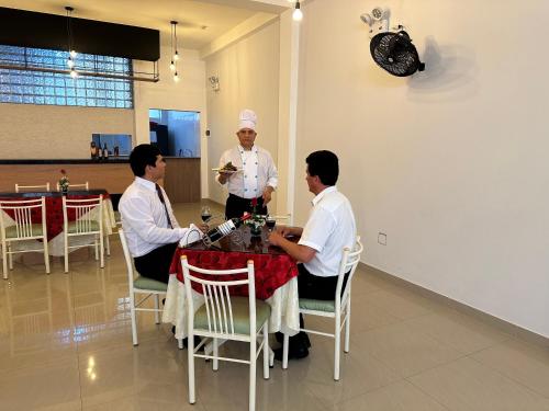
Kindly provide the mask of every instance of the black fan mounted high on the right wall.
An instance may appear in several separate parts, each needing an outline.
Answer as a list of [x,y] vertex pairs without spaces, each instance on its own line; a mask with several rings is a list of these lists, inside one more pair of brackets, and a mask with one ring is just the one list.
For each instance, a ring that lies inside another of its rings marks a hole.
[[399,25],[396,31],[389,31],[389,14],[388,9],[376,8],[371,14],[360,15],[370,26],[370,53],[373,60],[383,70],[397,77],[425,70],[425,64],[419,60],[417,49],[403,27]]

